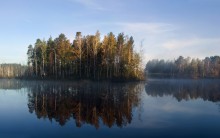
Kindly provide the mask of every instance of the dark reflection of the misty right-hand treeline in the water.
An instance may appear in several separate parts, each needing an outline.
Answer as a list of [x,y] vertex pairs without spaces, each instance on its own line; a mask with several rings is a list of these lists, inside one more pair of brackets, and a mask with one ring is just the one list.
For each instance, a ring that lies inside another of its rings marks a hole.
[[145,86],[148,95],[172,95],[178,101],[197,99],[220,101],[219,80],[151,80]]

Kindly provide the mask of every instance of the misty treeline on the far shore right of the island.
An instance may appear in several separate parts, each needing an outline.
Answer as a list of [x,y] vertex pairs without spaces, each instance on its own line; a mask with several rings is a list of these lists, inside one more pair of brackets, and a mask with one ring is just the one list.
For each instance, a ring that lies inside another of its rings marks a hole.
[[220,57],[191,59],[180,56],[174,61],[150,60],[145,71],[149,77],[220,78]]

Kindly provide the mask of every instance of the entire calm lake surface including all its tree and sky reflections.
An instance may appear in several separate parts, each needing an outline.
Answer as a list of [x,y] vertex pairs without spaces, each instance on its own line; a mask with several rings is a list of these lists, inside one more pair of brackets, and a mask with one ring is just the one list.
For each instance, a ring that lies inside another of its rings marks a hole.
[[219,80],[0,80],[0,138],[220,137]]

